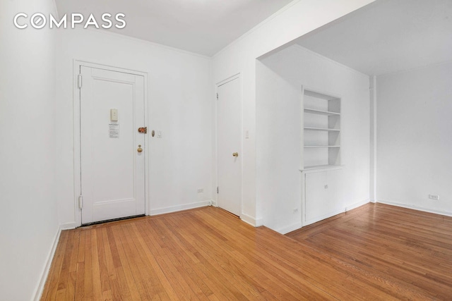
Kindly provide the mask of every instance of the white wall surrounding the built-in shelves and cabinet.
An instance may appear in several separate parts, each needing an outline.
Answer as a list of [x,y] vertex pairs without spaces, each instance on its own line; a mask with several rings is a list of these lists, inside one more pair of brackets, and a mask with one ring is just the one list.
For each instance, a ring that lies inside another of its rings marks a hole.
[[[294,45],[256,64],[256,197],[263,224],[301,227],[301,87],[341,98],[341,195],[336,208],[369,201],[369,76]],[[294,212],[294,209],[298,209]]]

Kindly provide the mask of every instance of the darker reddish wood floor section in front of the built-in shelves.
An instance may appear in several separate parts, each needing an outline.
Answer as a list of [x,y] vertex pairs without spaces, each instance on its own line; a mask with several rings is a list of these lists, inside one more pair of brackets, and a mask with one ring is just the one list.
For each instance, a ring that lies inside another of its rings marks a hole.
[[287,236],[367,278],[369,296],[452,300],[451,217],[367,204]]

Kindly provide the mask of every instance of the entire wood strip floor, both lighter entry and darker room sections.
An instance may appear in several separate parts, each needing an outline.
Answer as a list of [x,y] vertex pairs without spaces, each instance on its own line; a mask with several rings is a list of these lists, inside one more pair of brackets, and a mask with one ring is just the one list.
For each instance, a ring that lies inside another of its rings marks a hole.
[[452,300],[451,231],[383,204],[288,237],[215,207],[146,216],[63,231],[42,300]]

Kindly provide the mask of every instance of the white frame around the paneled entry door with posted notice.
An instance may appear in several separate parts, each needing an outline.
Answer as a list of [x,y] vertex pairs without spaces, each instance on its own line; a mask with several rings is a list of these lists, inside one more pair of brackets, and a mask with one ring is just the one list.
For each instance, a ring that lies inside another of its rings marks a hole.
[[[82,225],[82,209],[78,207],[78,197],[81,195],[81,113],[80,113],[80,98],[81,93],[80,89],[78,89],[78,74],[80,73],[81,66],[90,67],[90,68],[98,68],[109,71],[116,71],[121,73],[129,73],[133,75],[141,75],[144,78],[144,126],[148,126],[149,120],[149,106],[148,106],[148,87],[149,87],[149,77],[148,73],[138,70],[131,70],[126,68],[119,68],[109,65],[102,65],[99,63],[91,63],[88,61],[80,61],[73,60],[73,181],[74,181],[74,219],[76,222],[76,227],[80,227]],[[83,87],[83,80],[82,80]],[[144,161],[145,161],[145,174],[144,174],[144,183],[145,183],[145,215],[149,215],[150,211],[150,202],[149,202],[149,154],[150,154],[150,145],[149,145],[149,137],[145,134],[145,151],[144,151]]]

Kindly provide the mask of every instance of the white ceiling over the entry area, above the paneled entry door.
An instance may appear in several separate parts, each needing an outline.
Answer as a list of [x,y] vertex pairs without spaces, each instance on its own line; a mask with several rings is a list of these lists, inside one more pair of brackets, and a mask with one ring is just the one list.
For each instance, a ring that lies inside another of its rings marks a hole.
[[213,56],[292,0],[56,0],[58,13],[125,13],[110,31]]

